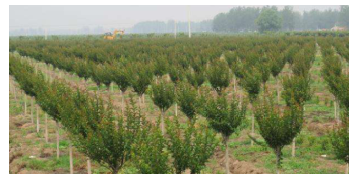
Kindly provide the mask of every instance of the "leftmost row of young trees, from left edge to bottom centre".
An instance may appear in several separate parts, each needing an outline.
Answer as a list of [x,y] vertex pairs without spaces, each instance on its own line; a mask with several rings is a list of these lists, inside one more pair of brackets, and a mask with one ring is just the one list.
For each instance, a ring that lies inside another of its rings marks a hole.
[[215,133],[205,125],[192,121],[183,128],[178,120],[176,123],[167,120],[166,138],[160,133],[159,123],[147,121],[133,100],[125,115],[118,115],[111,102],[74,91],[60,80],[48,82],[41,72],[11,54],[9,75],[66,129],[81,153],[113,174],[128,162],[141,174],[170,174],[173,170],[182,174],[187,169],[198,174],[217,146]]

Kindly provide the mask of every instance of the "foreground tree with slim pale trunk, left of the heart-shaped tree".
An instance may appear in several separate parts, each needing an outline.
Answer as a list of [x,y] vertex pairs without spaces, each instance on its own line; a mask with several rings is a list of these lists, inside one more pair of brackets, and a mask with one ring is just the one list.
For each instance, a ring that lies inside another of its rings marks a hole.
[[207,99],[207,103],[203,106],[203,116],[211,128],[220,133],[226,146],[225,168],[226,174],[230,174],[229,170],[229,138],[238,130],[246,117],[246,105],[238,107],[238,103],[234,99],[229,103],[225,96],[218,99]]

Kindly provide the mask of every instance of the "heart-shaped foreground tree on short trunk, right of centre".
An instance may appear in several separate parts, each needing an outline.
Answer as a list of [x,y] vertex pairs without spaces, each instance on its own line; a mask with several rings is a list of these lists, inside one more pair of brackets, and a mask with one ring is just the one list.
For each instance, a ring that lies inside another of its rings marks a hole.
[[303,110],[299,105],[293,105],[281,114],[272,100],[264,99],[255,109],[255,118],[261,136],[276,154],[277,174],[280,174],[282,149],[299,135],[304,122]]

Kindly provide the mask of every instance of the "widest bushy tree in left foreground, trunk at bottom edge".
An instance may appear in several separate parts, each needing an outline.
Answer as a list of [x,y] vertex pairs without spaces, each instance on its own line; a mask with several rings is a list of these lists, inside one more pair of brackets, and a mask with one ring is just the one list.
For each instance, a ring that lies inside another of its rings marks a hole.
[[132,146],[140,140],[144,118],[131,101],[125,117],[113,115],[111,103],[77,92],[63,107],[64,126],[78,151],[118,174],[131,159]]

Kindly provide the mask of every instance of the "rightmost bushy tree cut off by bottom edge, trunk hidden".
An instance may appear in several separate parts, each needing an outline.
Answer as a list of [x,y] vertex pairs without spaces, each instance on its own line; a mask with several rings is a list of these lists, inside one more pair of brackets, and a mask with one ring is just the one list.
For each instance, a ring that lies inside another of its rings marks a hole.
[[191,174],[200,174],[217,147],[215,133],[190,121],[186,127],[182,127],[178,118],[174,122],[166,120],[166,124],[168,149],[174,158],[175,173],[182,174],[190,169]]

